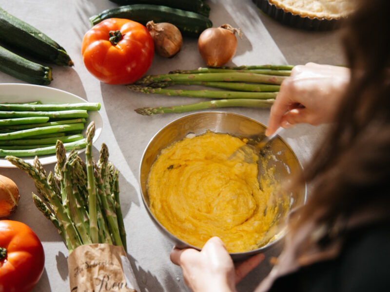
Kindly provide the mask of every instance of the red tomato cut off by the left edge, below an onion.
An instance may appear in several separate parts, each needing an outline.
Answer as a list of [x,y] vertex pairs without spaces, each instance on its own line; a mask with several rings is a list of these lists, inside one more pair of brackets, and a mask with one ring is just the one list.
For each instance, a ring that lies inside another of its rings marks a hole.
[[45,264],[42,244],[26,224],[0,220],[0,292],[28,292]]

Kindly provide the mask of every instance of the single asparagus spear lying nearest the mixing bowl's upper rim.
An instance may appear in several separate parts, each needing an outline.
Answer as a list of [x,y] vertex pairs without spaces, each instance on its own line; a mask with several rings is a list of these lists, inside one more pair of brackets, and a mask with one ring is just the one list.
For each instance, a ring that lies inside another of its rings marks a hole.
[[186,112],[192,110],[206,110],[227,107],[270,108],[274,99],[218,99],[204,101],[184,106],[139,108],[135,111],[142,115],[154,115],[157,113]]

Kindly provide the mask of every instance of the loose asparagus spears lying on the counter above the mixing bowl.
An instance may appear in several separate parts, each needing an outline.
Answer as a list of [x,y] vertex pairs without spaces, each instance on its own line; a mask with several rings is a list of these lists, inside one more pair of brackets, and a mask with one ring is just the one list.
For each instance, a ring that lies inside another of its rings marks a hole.
[[[216,98],[189,105],[135,110],[142,115],[224,107],[268,108],[272,106],[280,84],[286,76],[290,75],[292,67],[292,65],[259,65],[175,70],[169,74],[145,76],[136,84],[127,87],[141,93]],[[201,85],[229,91],[165,89],[173,85]]]

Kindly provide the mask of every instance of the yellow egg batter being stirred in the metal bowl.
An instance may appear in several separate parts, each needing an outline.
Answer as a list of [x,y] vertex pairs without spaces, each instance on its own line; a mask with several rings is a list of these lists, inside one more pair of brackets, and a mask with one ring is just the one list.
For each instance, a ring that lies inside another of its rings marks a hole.
[[[258,248],[270,240],[278,204],[272,175],[257,181],[257,164],[229,157],[245,142],[207,132],[163,149],[148,177],[150,209],[181,240],[202,248],[213,236],[230,253]],[[271,170],[272,171],[272,170]]]

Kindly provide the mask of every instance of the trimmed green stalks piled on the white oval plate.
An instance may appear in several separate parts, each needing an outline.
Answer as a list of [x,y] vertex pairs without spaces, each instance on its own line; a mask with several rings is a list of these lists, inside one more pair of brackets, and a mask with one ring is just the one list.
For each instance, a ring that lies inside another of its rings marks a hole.
[[88,110],[99,110],[99,103],[0,104],[0,157],[28,157],[56,153],[56,142],[66,150],[86,146],[81,131]]

